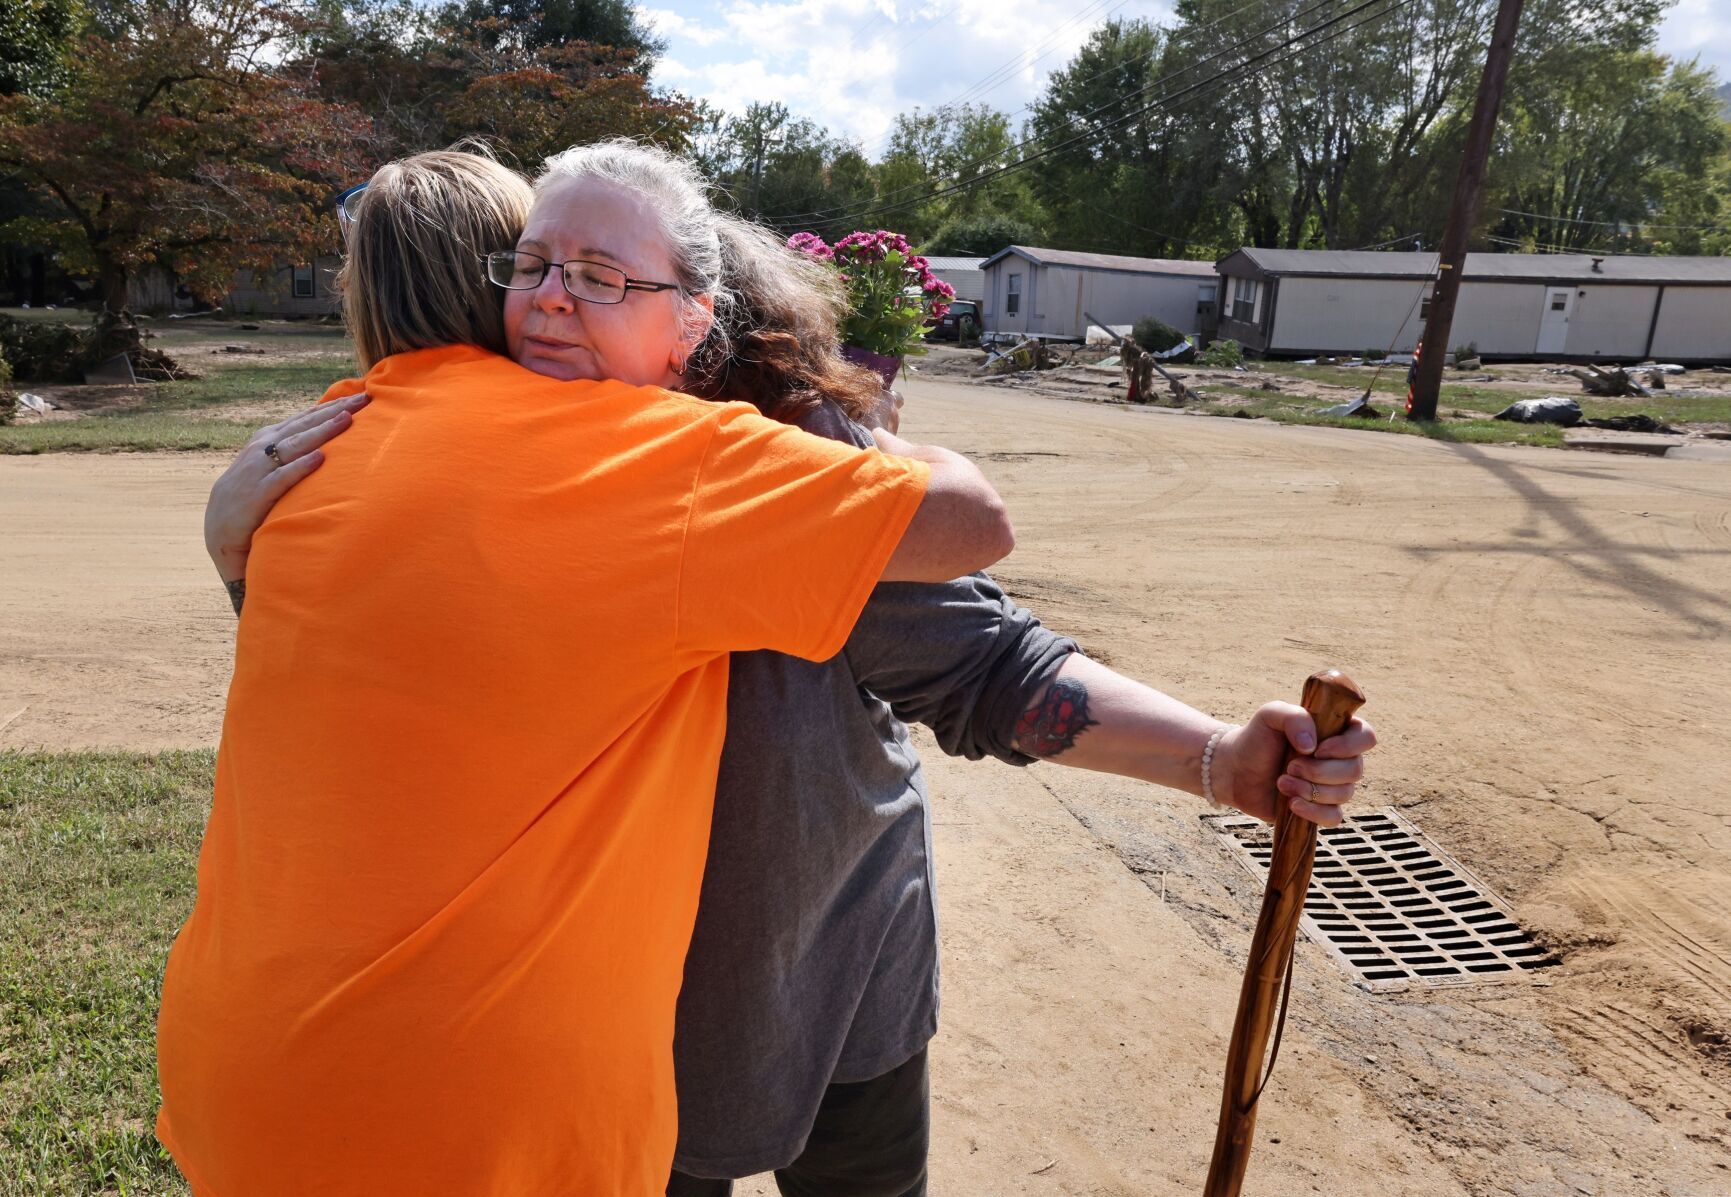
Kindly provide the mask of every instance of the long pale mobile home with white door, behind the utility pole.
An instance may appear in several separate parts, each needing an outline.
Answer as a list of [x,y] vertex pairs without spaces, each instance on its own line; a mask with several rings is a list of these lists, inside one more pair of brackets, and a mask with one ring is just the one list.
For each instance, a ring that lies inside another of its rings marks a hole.
[[[1402,353],[1437,254],[1239,249],[1219,272],[1219,336],[1252,353]],[[1489,358],[1731,362],[1731,258],[1466,254],[1449,341]]]

